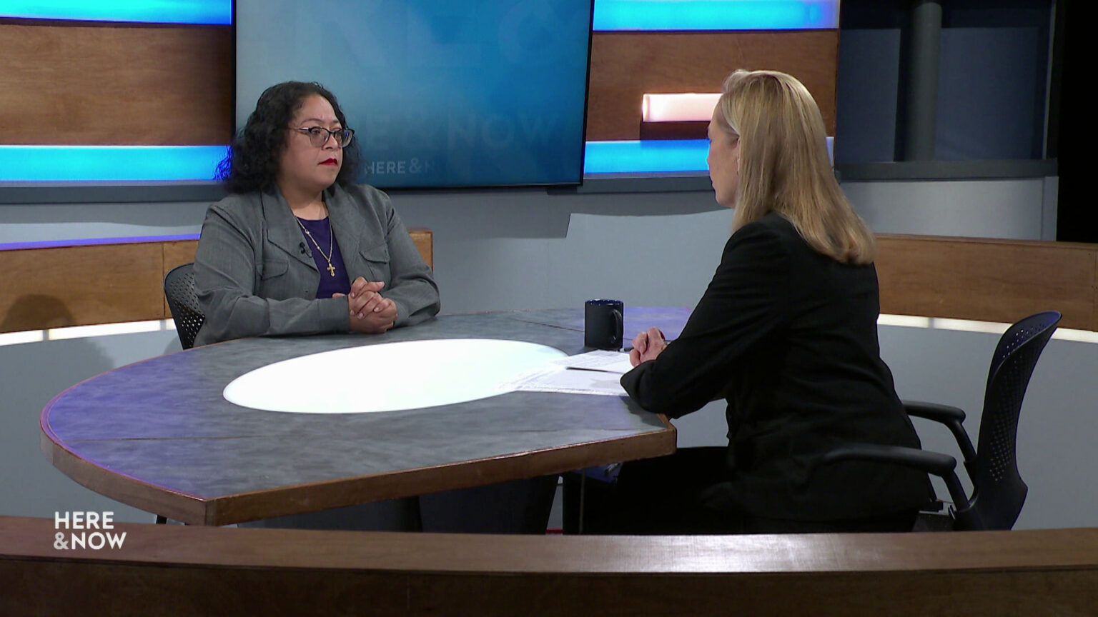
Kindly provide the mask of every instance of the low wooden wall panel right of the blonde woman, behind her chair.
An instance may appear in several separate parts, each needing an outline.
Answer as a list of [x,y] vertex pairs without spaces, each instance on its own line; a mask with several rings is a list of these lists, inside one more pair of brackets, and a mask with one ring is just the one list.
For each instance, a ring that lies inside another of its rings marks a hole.
[[881,312],[1013,323],[1053,310],[1095,330],[1096,258],[1085,244],[881,236]]

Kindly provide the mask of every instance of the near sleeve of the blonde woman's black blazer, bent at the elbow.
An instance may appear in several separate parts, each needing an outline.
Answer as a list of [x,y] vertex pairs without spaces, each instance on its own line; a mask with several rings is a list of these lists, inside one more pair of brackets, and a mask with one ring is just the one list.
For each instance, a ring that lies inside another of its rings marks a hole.
[[789,267],[777,231],[751,224],[733,234],[682,335],[621,377],[629,396],[670,417],[717,397],[752,346],[781,327]]

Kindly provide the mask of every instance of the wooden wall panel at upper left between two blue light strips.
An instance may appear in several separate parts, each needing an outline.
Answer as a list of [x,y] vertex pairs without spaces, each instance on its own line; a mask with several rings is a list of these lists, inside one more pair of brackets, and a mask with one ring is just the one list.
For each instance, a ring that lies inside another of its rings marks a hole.
[[0,20],[0,143],[227,144],[232,26]]

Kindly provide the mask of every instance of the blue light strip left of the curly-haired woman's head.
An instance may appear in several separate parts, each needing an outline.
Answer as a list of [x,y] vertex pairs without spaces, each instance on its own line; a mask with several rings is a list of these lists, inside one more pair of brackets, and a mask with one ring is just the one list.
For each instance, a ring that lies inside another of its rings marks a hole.
[[212,180],[226,146],[0,146],[0,182]]

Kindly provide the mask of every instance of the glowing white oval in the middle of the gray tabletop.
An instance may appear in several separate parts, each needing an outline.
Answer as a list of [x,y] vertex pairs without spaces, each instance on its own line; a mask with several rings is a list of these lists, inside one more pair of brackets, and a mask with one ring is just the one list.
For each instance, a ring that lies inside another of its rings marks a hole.
[[518,375],[567,356],[517,340],[408,340],[291,358],[234,379],[223,395],[254,410],[360,414],[486,399]]

